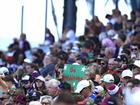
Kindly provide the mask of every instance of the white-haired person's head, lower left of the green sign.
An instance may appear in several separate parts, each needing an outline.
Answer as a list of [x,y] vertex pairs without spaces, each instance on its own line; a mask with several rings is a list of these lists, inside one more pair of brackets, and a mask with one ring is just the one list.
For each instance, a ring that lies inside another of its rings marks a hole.
[[50,79],[46,85],[47,85],[48,95],[55,97],[59,94],[60,81],[58,81],[57,79]]

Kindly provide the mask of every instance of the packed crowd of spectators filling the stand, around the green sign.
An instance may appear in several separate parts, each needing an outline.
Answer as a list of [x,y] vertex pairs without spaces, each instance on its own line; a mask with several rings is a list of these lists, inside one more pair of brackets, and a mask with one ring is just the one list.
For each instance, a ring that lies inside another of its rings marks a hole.
[[[58,42],[46,29],[48,52],[31,48],[24,33],[15,38],[0,51],[0,105],[140,105],[140,10],[106,18],[106,26],[86,20],[78,38],[66,27]],[[75,91],[63,79],[73,63],[88,67]]]

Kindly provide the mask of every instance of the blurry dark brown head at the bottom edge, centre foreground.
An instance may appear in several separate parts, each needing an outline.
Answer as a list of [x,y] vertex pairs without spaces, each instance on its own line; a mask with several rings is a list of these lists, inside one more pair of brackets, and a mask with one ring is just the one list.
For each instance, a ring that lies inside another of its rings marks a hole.
[[71,93],[65,92],[58,96],[53,105],[76,105],[76,102]]

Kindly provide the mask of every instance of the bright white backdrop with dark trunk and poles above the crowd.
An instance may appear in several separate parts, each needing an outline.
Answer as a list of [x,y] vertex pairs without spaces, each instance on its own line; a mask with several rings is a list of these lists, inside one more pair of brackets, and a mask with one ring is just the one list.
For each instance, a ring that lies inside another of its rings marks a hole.
[[98,16],[104,25],[107,14],[118,8],[122,15],[140,7],[140,0],[0,0],[0,50],[7,50],[14,38],[27,35],[32,47],[43,45],[45,28],[58,41],[65,26],[76,36],[84,34],[85,20]]

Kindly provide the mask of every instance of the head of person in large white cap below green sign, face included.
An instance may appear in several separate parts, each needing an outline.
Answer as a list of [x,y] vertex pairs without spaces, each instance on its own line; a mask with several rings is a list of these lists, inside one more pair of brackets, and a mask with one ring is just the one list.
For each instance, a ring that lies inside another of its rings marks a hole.
[[94,89],[94,84],[91,80],[81,80],[76,87],[75,93],[80,93],[85,98],[91,95]]

